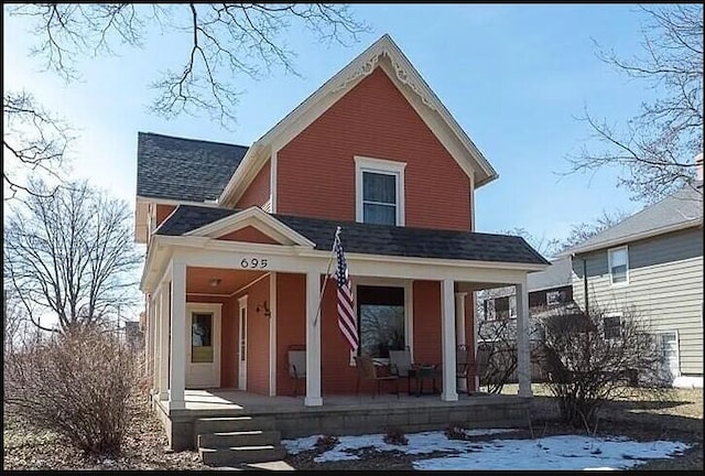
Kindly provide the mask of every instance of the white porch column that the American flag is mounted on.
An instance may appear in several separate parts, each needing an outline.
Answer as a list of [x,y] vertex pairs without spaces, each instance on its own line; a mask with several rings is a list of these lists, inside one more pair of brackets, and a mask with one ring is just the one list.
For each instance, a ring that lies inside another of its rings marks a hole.
[[[306,398],[304,405],[321,407],[321,274],[306,273]],[[317,320],[314,324],[314,320]]]

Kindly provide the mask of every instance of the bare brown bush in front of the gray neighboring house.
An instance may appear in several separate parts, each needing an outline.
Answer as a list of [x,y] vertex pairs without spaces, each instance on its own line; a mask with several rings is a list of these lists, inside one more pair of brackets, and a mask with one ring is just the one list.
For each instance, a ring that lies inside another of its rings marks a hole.
[[[606,329],[606,312],[554,314],[542,322],[538,355],[561,418],[574,426],[597,424],[606,401],[648,390],[659,398],[670,386],[655,337],[633,310],[621,312],[619,326]],[[655,371],[654,371],[655,370]],[[639,385],[639,388],[633,387]]]

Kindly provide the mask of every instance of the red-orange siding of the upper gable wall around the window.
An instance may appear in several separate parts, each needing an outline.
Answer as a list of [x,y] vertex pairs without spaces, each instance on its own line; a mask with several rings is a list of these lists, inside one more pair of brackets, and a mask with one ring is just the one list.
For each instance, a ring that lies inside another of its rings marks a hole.
[[470,228],[469,178],[381,69],[278,152],[276,212],[355,220],[354,155],[406,162],[406,226]]

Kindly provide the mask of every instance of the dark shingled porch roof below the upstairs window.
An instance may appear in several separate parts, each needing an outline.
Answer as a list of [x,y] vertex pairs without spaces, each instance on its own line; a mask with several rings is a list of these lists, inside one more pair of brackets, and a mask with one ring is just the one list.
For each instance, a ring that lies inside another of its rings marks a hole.
[[[178,236],[237,213],[237,209],[180,205],[156,229],[158,235]],[[463,259],[547,264],[521,237],[470,231],[371,225],[272,215],[316,245],[332,249],[337,226],[346,252],[417,258]]]

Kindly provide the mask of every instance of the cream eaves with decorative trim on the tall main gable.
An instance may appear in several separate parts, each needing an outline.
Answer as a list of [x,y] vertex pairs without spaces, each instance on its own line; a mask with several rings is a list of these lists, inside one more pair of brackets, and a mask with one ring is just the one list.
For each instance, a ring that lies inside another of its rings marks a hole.
[[[227,186],[219,197],[219,203],[234,203],[243,193],[245,187],[254,177],[269,156],[271,145],[278,142],[280,147],[295,137],[301,130],[311,125],[328,107],[335,104],[347,90],[352,88],[362,78],[370,75],[377,67],[382,66],[382,60],[389,60],[391,66],[387,73],[400,89],[408,90],[406,94],[415,95],[420,98],[421,108],[432,115],[431,122],[442,125],[454,139],[453,147],[438,137],[427,119],[426,125],[434,131],[441,142],[448,149],[451,155],[458,162],[463,171],[473,175],[475,187],[479,187],[498,177],[497,172],[485,159],[479,149],[466,134],[455,118],[441,102],[438,97],[421,77],[416,68],[411,64],[399,46],[392,41],[389,34],[382,35],[377,42],[360,53],[343,69],[336,73],[323,86],[316,89],[311,96],[304,99],[295,109],[289,112],[283,119],[258,139],[248,153],[242,159],[242,165],[230,177]],[[413,106],[413,104],[412,104]],[[423,115],[422,115],[423,118]],[[282,139],[283,138],[283,139]],[[462,155],[462,158],[459,156]]]

